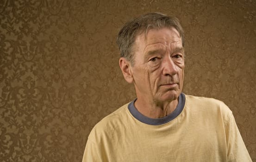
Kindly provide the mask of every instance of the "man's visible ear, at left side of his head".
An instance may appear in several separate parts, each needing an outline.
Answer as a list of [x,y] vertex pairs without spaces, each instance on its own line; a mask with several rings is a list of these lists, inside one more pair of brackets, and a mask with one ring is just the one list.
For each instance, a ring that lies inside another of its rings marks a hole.
[[127,61],[124,57],[119,59],[119,67],[122,70],[125,80],[128,83],[133,82],[133,76],[131,74],[131,62]]

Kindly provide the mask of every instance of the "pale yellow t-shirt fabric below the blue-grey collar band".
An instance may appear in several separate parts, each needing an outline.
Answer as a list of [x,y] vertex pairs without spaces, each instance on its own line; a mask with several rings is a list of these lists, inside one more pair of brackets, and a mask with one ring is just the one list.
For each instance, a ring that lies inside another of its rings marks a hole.
[[181,114],[164,125],[138,121],[127,106],[94,126],[82,162],[252,162],[219,100],[186,95]]

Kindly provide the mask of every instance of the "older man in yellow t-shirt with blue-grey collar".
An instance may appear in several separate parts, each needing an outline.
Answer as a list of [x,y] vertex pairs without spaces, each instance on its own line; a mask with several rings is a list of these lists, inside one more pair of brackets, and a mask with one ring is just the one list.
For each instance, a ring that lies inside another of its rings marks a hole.
[[120,69],[137,99],[94,126],[83,162],[251,162],[231,110],[182,93],[178,19],[141,15],[124,25],[117,43]]

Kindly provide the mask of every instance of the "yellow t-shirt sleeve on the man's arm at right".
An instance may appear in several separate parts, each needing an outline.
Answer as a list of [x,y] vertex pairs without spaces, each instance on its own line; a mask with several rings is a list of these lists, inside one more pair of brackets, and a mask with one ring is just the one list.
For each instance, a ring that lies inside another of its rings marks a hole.
[[225,121],[228,162],[252,162],[232,112]]

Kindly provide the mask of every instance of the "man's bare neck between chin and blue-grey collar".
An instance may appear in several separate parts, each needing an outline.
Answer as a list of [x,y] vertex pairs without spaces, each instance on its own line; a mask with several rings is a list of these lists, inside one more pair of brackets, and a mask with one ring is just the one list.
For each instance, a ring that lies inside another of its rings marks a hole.
[[178,105],[178,99],[171,101],[147,101],[137,99],[134,106],[144,116],[149,118],[163,118],[172,113]]

